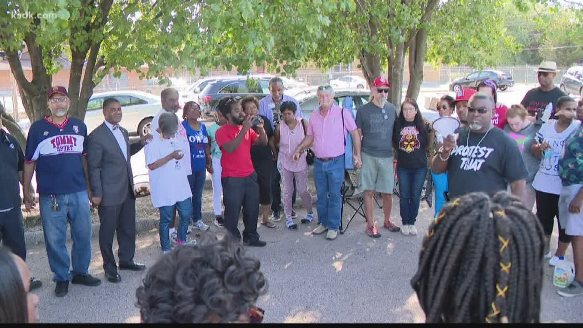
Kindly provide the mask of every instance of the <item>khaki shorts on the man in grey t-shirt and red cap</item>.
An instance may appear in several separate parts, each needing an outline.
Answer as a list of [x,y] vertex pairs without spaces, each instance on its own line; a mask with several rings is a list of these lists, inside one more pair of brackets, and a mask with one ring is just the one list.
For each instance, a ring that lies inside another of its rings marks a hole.
[[392,194],[395,186],[395,171],[392,157],[375,157],[362,153],[363,166],[359,170],[360,190]]

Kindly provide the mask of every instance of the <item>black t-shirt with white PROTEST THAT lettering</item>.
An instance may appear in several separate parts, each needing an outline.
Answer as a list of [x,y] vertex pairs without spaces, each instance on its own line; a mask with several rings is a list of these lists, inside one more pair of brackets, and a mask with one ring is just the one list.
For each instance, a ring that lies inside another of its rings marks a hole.
[[468,127],[456,132],[458,146],[452,149],[447,163],[452,199],[473,191],[491,194],[507,190],[509,183],[528,176],[517,143],[500,128],[492,127],[486,137],[483,133],[469,132]]

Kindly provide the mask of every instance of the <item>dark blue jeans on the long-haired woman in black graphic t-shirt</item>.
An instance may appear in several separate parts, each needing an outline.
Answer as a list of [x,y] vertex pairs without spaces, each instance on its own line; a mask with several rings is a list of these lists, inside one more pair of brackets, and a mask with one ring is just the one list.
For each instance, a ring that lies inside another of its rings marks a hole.
[[405,169],[399,168],[397,164],[400,194],[399,207],[401,208],[401,222],[403,225],[415,225],[426,175],[426,166],[419,169]]

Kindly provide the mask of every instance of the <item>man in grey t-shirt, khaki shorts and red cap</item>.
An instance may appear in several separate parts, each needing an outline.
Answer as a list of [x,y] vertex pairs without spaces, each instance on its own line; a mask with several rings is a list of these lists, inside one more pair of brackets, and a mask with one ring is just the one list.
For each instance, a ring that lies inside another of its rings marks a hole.
[[392,232],[400,228],[391,222],[392,193],[395,183],[393,170],[392,135],[395,124],[395,106],[387,102],[391,85],[387,79],[378,77],[373,81],[373,101],[361,106],[356,112],[356,126],[362,136],[362,168],[360,189],[364,190],[364,212],[366,213],[368,236],[378,238],[374,224],[373,197],[382,195],[384,226]]

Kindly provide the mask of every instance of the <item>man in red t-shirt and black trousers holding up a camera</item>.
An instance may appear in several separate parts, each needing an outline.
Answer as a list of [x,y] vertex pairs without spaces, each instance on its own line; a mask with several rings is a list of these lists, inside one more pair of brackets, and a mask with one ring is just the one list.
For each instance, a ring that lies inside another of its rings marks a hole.
[[246,116],[241,104],[233,97],[225,97],[217,108],[227,118],[227,124],[220,127],[215,134],[222,152],[221,181],[225,226],[235,238],[241,238],[237,223],[243,207],[243,243],[249,246],[265,246],[266,243],[259,240],[257,233],[259,185],[251,162],[251,145],[267,145],[264,121],[257,117],[257,122],[254,122],[259,131],[257,134],[251,129],[254,126],[252,121],[256,117]]

